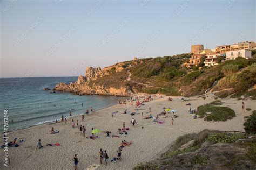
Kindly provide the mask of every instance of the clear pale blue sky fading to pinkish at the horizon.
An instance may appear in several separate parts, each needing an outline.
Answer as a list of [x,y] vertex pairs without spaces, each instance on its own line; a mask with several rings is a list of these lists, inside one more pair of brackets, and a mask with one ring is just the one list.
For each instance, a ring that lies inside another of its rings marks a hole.
[[255,39],[256,1],[0,1],[0,77],[86,67]]

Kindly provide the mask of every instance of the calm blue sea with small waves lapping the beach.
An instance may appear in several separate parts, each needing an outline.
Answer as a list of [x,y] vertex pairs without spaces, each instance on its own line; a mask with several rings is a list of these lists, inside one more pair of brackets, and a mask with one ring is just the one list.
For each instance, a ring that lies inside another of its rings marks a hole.
[[[65,92],[50,93],[43,88],[54,88],[59,82],[75,82],[77,77],[31,77],[0,79],[0,133],[4,130],[4,112],[8,115],[8,131],[28,128],[60,120],[62,115],[69,117],[82,115],[117,104],[125,97],[74,95]],[[5,119],[6,121],[6,119]]]

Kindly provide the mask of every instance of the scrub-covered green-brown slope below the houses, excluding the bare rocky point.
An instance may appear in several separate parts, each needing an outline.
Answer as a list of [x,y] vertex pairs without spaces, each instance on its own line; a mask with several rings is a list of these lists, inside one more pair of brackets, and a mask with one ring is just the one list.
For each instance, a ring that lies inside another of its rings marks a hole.
[[[104,84],[116,88],[127,87],[133,91],[149,94],[194,96],[204,94],[205,90],[220,79],[219,85],[214,87],[215,91],[233,88],[232,93],[242,92],[256,82],[256,69],[247,69],[256,62],[255,58],[250,60],[238,58],[234,61],[221,62],[211,68],[203,67],[200,70],[197,67],[192,69],[181,67],[188,58],[190,58],[189,54],[180,54],[125,61],[119,63],[124,68],[122,72],[115,73],[113,69],[110,75],[99,77],[91,84]],[[131,67],[129,67],[130,64]],[[235,76],[223,73],[223,67],[226,65],[238,66],[239,70],[234,73]],[[130,81],[126,81],[129,76],[128,71],[132,74]]]

